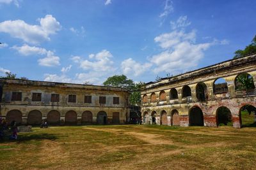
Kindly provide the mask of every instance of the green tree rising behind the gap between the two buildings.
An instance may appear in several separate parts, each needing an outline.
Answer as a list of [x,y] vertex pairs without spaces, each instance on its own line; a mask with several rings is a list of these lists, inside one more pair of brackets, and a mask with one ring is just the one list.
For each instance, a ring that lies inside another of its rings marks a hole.
[[109,87],[122,87],[129,92],[130,95],[130,103],[133,105],[140,105],[141,104],[141,96],[140,96],[140,89],[144,83],[134,83],[133,80],[128,79],[127,76],[124,74],[122,75],[115,75],[109,77],[106,81],[104,81],[103,85]]

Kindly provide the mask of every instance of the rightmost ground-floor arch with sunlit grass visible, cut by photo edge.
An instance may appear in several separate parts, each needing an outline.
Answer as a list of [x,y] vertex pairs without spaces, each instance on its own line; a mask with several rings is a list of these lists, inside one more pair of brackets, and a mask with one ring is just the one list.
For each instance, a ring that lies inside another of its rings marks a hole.
[[250,104],[242,106],[239,110],[239,118],[243,127],[256,127],[256,108]]

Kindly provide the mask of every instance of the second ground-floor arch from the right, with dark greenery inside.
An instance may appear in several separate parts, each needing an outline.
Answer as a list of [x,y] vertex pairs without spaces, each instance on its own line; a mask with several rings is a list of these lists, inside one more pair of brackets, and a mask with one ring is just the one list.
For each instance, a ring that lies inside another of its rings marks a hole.
[[232,125],[231,111],[225,106],[220,106],[216,110],[216,122],[217,125]]

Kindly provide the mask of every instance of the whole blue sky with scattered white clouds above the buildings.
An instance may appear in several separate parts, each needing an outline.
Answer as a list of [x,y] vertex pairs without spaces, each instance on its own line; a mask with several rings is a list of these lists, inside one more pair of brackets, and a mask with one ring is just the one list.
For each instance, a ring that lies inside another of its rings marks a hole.
[[256,34],[256,1],[0,0],[0,76],[95,85],[232,59]]

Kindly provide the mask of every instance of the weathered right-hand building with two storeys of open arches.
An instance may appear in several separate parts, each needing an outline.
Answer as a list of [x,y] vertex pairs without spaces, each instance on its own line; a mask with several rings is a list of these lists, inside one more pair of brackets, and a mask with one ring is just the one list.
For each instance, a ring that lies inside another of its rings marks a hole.
[[143,122],[216,127],[225,110],[239,128],[244,108],[255,114],[255,86],[255,54],[149,82],[141,92]]

